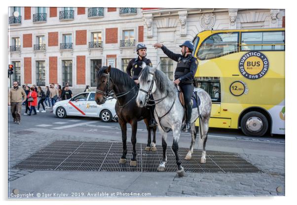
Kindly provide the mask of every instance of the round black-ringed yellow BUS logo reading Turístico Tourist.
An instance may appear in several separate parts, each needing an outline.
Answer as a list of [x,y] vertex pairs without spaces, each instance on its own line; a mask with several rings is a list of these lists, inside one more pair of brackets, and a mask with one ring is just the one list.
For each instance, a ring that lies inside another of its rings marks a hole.
[[259,79],[268,71],[269,63],[264,54],[251,51],[244,54],[239,61],[240,73],[248,79]]

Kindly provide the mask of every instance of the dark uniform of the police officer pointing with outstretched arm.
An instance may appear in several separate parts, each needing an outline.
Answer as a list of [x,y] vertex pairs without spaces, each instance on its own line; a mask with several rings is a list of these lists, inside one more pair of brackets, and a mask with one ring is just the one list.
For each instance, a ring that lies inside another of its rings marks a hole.
[[184,94],[185,99],[186,123],[189,123],[192,115],[191,96],[194,91],[193,79],[197,70],[198,61],[192,54],[188,54],[187,56],[176,54],[170,51],[164,45],[161,47],[161,49],[169,58],[178,62],[174,73],[174,79],[179,79],[181,81],[179,86]]

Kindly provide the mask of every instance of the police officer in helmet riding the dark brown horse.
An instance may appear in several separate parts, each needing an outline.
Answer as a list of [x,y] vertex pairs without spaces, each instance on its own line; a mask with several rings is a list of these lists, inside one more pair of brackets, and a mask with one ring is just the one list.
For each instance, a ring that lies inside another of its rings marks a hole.
[[[151,61],[146,58],[147,56],[147,46],[144,43],[138,43],[136,46],[136,53],[138,55],[137,58],[132,59],[129,63],[128,66],[126,68],[126,72],[128,73],[128,75],[134,80],[134,82],[139,86],[139,81],[138,81],[138,76],[142,70],[142,64],[143,62],[147,64],[147,66],[152,67]],[[131,69],[133,71],[133,76],[131,74]],[[150,97],[150,99],[152,99],[152,96]],[[149,104],[149,102],[148,102]],[[153,106],[149,106],[149,110],[150,110],[150,116],[151,116],[151,120],[149,122],[149,126],[150,127],[154,127],[156,125],[156,120],[154,119],[154,115],[153,115],[153,110],[154,110],[154,105]]]

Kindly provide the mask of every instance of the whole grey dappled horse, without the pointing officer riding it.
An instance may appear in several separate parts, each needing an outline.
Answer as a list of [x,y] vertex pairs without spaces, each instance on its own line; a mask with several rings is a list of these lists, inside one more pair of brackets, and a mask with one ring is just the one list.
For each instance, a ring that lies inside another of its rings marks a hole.
[[[181,166],[181,162],[178,156],[178,142],[181,133],[181,127],[184,118],[184,108],[179,100],[177,88],[171,80],[160,70],[143,65],[143,70],[139,75],[140,89],[136,98],[136,103],[139,107],[146,105],[148,96],[153,95],[155,103],[154,116],[158,123],[159,131],[162,135],[162,147],[163,147],[163,162],[159,165],[158,171],[165,170],[165,164],[167,161],[166,148],[167,148],[167,133],[172,130],[173,132],[173,145],[172,149],[176,156],[176,162],[178,165],[178,175],[183,176],[185,174],[184,168]],[[203,151],[201,157],[201,163],[206,163],[206,151],[205,144],[207,141],[208,123],[210,119],[210,112],[212,102],[209,94],[201,88],[195,88],[198,97],[201,100],[199,106],[200,111],[200,137],[199,145],[203,144]],[[190,160],[193,147],[196,139],[195,121],[199,114],[198,109],[193,108],[191,116],[191,144],[189,151],[186,155],[186,160]]]

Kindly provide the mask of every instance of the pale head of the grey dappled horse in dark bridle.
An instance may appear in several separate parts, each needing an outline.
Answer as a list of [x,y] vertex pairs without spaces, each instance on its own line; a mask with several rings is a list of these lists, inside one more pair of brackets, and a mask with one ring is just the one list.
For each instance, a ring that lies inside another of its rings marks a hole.
[[143,69],[139,75],[139,92],[136,98],[137,106],[143,107],[150,94],[156,91],[156,83],[154,79],[154,72],[157,67],[151,68],[143,63]]

